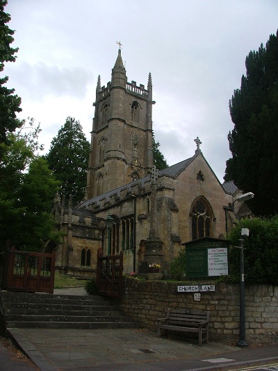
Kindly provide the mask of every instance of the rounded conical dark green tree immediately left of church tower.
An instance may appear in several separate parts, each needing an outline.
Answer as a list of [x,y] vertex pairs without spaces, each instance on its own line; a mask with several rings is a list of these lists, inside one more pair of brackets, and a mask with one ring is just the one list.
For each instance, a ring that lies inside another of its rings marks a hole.
[[79,121],[68,117],[51,141],[45,157],[56,179],[60,180],[65,197],[69,198],[71,194],[75,203],[85,195],[89,152],[90,143],[85,139]]

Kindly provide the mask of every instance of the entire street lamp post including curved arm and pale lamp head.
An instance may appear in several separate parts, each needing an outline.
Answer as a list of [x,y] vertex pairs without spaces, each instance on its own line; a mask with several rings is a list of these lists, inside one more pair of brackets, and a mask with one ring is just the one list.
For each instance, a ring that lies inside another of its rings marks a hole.
[[[238,196],[235,200],[239,202],[244,202],[254,198],[254,194],[252,192],[248,192],[247,194],[242,194]],[[234,203],[233,203],[233,212],[234,212]],[[234,212],[236,218],[240,222],[240,219]],[[241,222],[240,222],[241,225]],[[240,249],[240,292],[239,292],[239,339],[238,339],[238,347],[248,347],[248,343],[245,340],[245,276],[244,276],[244,238],[249,236],[249,229],[241,228],[240,232],[240,240],[239,246],[236,246]]]

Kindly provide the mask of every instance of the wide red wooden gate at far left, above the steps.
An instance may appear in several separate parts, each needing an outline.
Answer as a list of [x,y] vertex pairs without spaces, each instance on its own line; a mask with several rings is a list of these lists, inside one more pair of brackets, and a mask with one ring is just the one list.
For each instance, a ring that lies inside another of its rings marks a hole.
[[2,289],[53,294],[55,256],[55,251],[31,253],[12,247],[5,257]]

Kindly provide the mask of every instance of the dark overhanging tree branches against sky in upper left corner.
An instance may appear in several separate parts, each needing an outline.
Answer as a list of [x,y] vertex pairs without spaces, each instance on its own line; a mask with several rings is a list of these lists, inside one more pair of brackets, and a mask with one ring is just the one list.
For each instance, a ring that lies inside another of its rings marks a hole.
[[[3,71],[4,62],[15,62],[15,53],[18,50],[18,48],[10,47],[14,41],[15,31],[10,30],[6,25],[10,22],[10,15],[3,11],[7,3],[7,0],[0,0],[0,72]],[[21,125],[16,118],[16,113],[22,111],[19,107],[21,99],[13,95],[15,89],[8,89],[4,86],[7,81],[7,76],[0,78],[0,159],[4,151],[3,145],[9,143],[8,132],[14,132]]]

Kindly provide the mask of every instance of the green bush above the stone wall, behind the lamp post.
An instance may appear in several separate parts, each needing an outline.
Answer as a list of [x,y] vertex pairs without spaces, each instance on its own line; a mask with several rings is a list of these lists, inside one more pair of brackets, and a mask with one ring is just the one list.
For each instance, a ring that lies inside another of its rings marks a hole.
[[[269,219],[245,219],[236,226],[228,238],[231,246],[238,246],[241,228],[248,228],[245,237],[245,281],[278,285],[278,215]],[[231,248],[229,253],[229,281],[239,282],[240,251]]]

